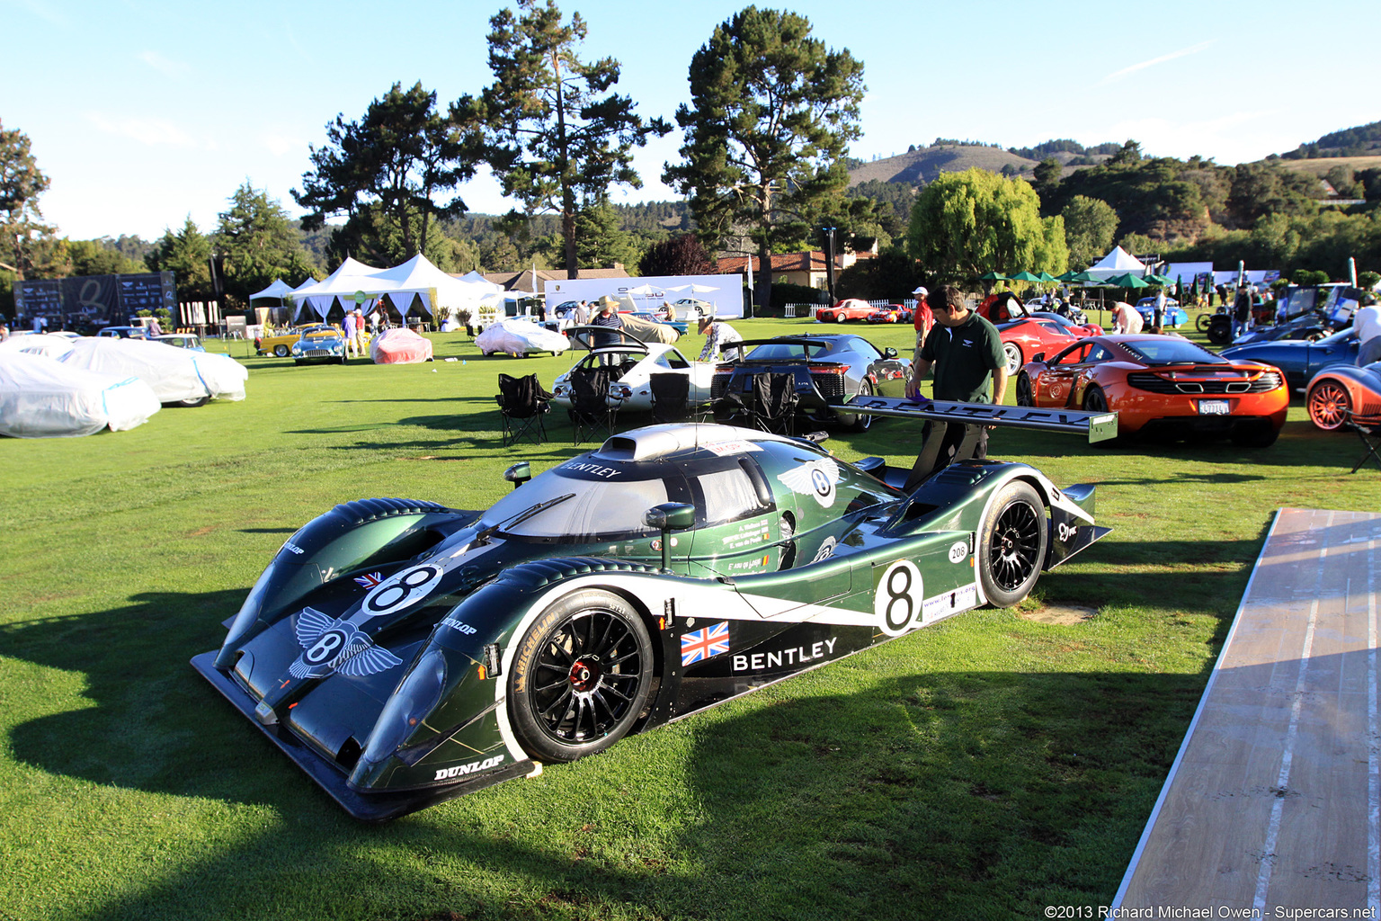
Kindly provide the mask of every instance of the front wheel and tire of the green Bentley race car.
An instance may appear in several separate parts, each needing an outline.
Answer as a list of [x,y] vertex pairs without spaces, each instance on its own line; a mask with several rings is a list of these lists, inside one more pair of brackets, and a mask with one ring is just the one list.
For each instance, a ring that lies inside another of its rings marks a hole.
[[652,641],[621,598],[588,590],[548,608],[523,635],[510,717],[537,761],[603,751],[637,722],[652,686]]

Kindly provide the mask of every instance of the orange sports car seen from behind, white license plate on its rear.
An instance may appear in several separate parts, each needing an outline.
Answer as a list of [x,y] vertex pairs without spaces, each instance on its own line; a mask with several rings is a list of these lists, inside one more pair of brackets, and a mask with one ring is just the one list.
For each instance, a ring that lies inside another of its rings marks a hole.
[[1230,435],[1235,445],[1265,447],[1284,425],[1290,391],[1269,365],[1233,362],[1178,336],[1120,334],[1037,355],[1016,376],[1016,402],[1116,410],[1123,435]]

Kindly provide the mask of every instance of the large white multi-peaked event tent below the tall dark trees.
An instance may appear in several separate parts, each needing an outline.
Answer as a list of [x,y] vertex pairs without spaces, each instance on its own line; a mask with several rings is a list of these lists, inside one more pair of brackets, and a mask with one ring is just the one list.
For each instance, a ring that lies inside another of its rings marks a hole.
[[403,318],[417,311],[441,319],[464,307],[478,307],[486,298],[501,297],[504,290],[475,272],[452,278],[421,254],[389,269],[376,269],[347,257],[325,280],[297,289],[290,300],[298,304],[298,315],[301,305],[307,305],[326,319],[336,298],[348,307],[356,293],[363,293],[370,302],[387,297]]

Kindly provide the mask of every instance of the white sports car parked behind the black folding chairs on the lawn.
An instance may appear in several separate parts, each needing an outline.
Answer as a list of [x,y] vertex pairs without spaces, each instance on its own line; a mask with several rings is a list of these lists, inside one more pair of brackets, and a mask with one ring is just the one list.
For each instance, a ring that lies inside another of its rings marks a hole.
[[[609,338],[601,342],[601,336]],[[610,400],[630,411],[652,410],[653,374],[685,374],[690,378],[689,400],[697,403],[710,399],[714,362],[692,362],[674,345],[642,342],[627,331],[599,331],[599,327],[579,326],[572,331],[572,337],[581,345],[592,348],[552,384],[551,394],[555,398],[552,402],[558,406],[570,406],[570,374],[584,367],[612,369]]]

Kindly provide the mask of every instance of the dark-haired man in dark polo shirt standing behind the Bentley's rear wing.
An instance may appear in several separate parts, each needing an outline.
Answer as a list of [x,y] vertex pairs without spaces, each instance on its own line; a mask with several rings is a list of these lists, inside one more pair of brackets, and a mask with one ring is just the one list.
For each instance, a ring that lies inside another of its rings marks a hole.
[[[997,327],[968,309],[964,305],[964,295],[953,284],[931,291],[925,302],[935,313],[935,329],[911,358],[911,378],[906,384],[906,395],[911,399],[918,398],[921,381],[934,367],[935,399],[1001,403],[1007,396],[1007,359],[1003,355],[1003,340],[997,334]],[[931,423],[927,423],[921,434],[923,445],[929,432]],[[940,467],[953,458],[963,439],[964,427],[950,425],[945,432],[938,458]],[[986,427],[979,432],[974,457],[987,457]],[[918,479],[928,474],[929,471],[913,471],[911,478]]]

